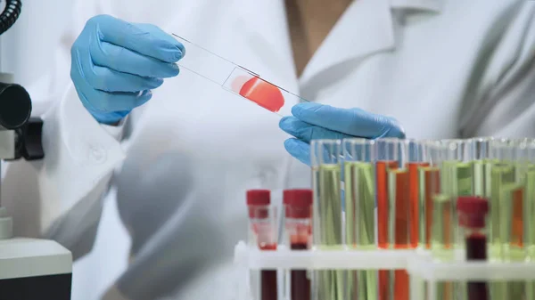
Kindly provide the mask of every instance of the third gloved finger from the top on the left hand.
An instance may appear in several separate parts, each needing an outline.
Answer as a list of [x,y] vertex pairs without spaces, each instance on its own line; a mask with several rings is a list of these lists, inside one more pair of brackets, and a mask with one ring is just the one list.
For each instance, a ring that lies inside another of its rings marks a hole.
[[140,77],[98,66],[94,66],[92,71],[84,74],[89,85],[104,92],[139,92],[163,84],[161,78]]

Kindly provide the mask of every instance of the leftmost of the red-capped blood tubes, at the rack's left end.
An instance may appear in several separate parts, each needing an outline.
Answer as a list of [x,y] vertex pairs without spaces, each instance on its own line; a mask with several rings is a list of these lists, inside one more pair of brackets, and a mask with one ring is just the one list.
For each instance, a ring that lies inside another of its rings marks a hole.
[[[249,244],[263,251],[274,251],[277,247],[276,207],[271,207],[270,204],[270,191],[247,191]],[[259,274],[251,275],[251,289],[255,300],[277,300],[276,270],[261,270]]]

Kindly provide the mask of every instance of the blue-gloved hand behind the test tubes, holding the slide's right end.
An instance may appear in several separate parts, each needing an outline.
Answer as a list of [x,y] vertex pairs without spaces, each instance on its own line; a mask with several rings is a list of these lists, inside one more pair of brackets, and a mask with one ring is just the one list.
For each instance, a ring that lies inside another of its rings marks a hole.
[[309,166],[309,142],[312,140],[405,137],[403,128],[395,119],[375,115],[362,109],[339,109],[304,102],[292,107],[292,115],[282,118],[279,123],[281,129],[295,136],[284,142],[284,148],[294,158]]

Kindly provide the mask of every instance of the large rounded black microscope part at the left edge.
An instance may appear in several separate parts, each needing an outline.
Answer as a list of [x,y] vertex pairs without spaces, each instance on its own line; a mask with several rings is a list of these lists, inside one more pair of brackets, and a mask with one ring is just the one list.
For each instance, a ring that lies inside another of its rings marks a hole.
[[31,115],[31,100],[24,87],[0,83],[0,126],[17,129],[24,126]]

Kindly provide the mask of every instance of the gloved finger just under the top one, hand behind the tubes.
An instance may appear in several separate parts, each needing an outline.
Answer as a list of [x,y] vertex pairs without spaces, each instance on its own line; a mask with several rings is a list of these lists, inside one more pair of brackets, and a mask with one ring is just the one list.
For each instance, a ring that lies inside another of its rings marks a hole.
[[303,142],[319,139],[345,139],[348,134],[341,134],[325,127],[310,125],[295,117],[284,117],[279,122],[279,127],[287,134],[292,134]]

